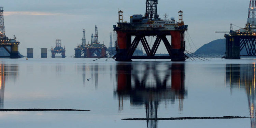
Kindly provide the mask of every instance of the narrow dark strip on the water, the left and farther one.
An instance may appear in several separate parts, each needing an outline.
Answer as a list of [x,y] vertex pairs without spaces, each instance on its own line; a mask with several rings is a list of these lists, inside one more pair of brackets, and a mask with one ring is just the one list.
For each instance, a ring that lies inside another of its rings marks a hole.
[[91,111],[80,109],[0,109],[1,112],[22,112],[22,111]]

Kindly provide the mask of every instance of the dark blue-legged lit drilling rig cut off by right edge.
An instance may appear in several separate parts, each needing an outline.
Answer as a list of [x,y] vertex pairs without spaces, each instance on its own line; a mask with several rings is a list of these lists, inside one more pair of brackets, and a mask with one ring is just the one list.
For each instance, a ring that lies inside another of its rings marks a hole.
[[[226,38],[227,59],[240,59],[241,56],[256,56],[256,0],[250,0],[247,23],[244,28],[233,30],[230,24],[229,34]],[[241,55],[241,51],[246,51]]]

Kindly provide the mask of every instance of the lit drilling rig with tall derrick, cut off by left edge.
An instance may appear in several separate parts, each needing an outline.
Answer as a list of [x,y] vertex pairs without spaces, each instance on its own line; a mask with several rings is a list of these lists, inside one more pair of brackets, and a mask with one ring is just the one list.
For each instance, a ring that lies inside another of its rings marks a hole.
[[[19,41],[16,41],[15,35],[14,39],[9,39],[6,37],[4,32],[4,20],[3,20],[3,7],[0,7],[0,47],[3,47],[10,56],[0,56],[0,57],[9,57],[9,58],[20,58],[18,54],[18,45]],[[11,48],[8,48],[11,47]]]

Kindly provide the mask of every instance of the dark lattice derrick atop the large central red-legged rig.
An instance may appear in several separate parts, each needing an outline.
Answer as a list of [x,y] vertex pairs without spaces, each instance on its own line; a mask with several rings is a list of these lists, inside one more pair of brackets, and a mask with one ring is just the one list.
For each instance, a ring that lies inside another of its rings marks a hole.
[[146,13],[145,18],[158,19],[157,14],[157,4],[158,0],[147,0],[146,1]]

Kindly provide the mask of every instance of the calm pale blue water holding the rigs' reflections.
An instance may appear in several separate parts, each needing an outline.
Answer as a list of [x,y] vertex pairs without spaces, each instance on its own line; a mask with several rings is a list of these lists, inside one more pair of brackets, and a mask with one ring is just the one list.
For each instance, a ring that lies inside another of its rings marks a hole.
[[[255,59],[92,61],[0,59],[0,127],[250,128],[256,126]],[[89,79],[89,81],[87,80]],[[246,116],[129,121],[122,118]]]

